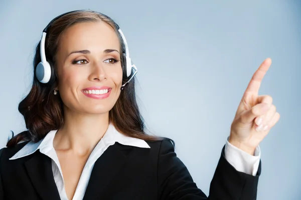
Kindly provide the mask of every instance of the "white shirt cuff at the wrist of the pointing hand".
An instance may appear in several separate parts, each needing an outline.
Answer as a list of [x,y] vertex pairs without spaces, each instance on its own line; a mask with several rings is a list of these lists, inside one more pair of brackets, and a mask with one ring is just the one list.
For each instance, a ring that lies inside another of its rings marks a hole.
[[226,160],[240,172],[256,175],[260,162],[260,147],[256,147],[254,155],[237,148],[228,141],[227,138],[225,145],[225,158]]

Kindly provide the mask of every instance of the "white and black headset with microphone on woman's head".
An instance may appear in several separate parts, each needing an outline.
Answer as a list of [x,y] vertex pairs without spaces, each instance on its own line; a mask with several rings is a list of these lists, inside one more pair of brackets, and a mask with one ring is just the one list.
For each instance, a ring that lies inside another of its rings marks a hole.
[[[61,16],[64,16],[66,14],[69,14],[71,12],[76,12],[76,11],[84,11],[84,10],[73,10],[73,11],[65,12],[65,13],[55,17],[54,19],[52,19],[43,30],[42,39],[40,41],[41,62],[39,62],[38,65],[36,66],[36,77],[41,83],[51,84],[54,81],[54,66],[47,61],[46,54],[45,54],[45,39],[46,39],[47,30],[51,26],[53,21],[57,20]],[[93,11],[93,12],[95,12],[95,11]],[[100,13],[100,14],[102,14],[102,13]],[[129,57],[128,45],[127,45],[126,39],[125,39],[121,29],[119,28],[118,24],[109,16],[107,16],[105,14],[102,14],[102,15],[106,16],[107,18],[109,18],[113,21],[113,23],[115,24],[116,28],[118,29],[120,36],[123,40],[123,43],[125,46],[125,53],[122,53],[123,77],[125,75],[126,75],[126,77],[129,77],[130,74],[132,73],[132,69],[134,69],[134,73],[132,74],[132,76],[123,85],[121,85],[120,89],[123,90],[124,87],[128,84],[128,82],[135,76],[135,74],[137,73],[138,70],[137,70],[137,67],[132,63],[131,58]]]

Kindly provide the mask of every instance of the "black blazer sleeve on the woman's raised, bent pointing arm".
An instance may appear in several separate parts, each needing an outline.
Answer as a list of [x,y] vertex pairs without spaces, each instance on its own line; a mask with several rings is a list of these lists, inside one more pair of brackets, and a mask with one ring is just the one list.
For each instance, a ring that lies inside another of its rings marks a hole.
[[[224,148],[225,146],[222,149],[207,197],[197,187],[187,167],[177,157],[173,144],[169,140],[162,141],[158,158],[158,199],[256,199],[261,162],[256,176],[237,171],[225,159]],[[201,167],[200,170],[202,170]]]

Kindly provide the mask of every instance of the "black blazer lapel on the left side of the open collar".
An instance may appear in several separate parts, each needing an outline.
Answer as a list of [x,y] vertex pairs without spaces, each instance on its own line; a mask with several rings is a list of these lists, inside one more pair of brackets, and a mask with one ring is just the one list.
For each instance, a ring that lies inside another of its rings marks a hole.
[[60,195],[53,178],[51,158],[40,151],[33,154],[32,158],[25,162],[29,177],[37,192],[44,200],[60,199]]

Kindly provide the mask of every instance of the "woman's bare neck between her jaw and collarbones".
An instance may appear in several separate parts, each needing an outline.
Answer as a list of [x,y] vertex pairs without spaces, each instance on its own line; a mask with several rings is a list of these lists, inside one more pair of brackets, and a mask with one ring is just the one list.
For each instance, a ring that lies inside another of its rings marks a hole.
[[56,150],[90,153],[109,125],[109,113],[86,114],[64,107],[64,124],[57,131],[53,145]]

